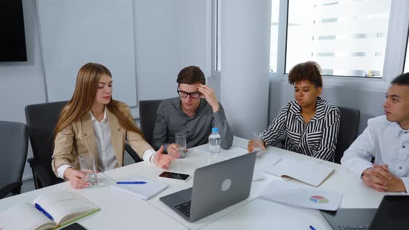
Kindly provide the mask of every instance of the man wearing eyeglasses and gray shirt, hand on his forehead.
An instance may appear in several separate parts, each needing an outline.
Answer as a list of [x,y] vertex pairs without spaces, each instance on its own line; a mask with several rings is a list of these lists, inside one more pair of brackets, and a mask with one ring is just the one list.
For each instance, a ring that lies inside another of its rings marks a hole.
[[233,134],[216,94],[206,84],[199,67],[186,67],[177,75],[177,98],[163,100],[157,109],[153,148],[164,145],[166,152],[179,157],[175,134],[186,134],[186,148],[208,142],[212,127],[222,136],[220,147],[232,146]]

